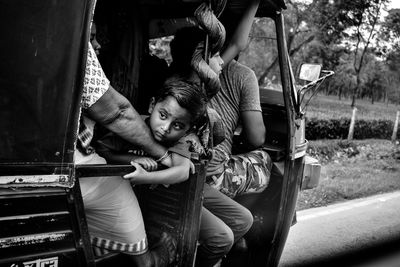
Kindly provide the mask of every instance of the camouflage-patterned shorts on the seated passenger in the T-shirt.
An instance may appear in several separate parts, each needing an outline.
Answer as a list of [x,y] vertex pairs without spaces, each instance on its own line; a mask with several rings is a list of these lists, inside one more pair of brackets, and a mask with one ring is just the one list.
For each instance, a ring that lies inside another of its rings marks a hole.
[[213,175],[209,184],[231,198],[257,193],[268,186],[271,169],[272,160],[262,149],[231,155],[224,171]]

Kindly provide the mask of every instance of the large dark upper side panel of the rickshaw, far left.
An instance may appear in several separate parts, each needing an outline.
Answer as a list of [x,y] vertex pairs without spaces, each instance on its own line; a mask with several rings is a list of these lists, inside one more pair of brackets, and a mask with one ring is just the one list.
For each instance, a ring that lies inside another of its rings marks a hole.
[[91,4],[0,2],[1,175],[64,174],[54,184],[73,186]]

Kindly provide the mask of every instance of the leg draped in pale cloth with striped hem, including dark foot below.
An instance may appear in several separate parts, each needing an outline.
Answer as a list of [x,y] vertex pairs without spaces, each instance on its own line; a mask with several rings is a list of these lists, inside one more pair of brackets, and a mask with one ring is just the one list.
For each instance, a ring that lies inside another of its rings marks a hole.
[[86,178],[81,188],[95,252],[125,253],[137,266],[145,267],[167,266],[173,261],[174,240],[165,233],[157,246],[148,249],[139,203],[128,181]]

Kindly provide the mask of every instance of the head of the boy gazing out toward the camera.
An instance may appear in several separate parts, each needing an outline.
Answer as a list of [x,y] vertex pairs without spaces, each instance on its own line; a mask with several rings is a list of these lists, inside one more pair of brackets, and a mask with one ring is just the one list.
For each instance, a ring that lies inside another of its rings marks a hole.
[[150,129],[158,142],[172,144],[191,130],[205,111],[206,97],[200,88],[169,78],[150,102]]

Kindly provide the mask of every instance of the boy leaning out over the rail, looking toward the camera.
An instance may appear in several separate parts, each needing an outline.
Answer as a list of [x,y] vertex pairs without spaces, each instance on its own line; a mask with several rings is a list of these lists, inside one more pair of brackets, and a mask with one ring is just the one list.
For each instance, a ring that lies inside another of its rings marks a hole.
[[[142,150],[110,133],[98,141],[98,152],[108,163],[129,164],[136,170],[124,176],[132,184],[174,184],[185,181],[191,169],[192,153],[204,154],[193,133],[206,109],[206,98],[197,87],[180,79],[168,79],[161,93],[149,105],[145,118],[156,141],[168,147],[159,160],[146,157]],[[158,163],[168,159],[170,168],[158,170]],[[152,171],[149,173],[148,171]]]

